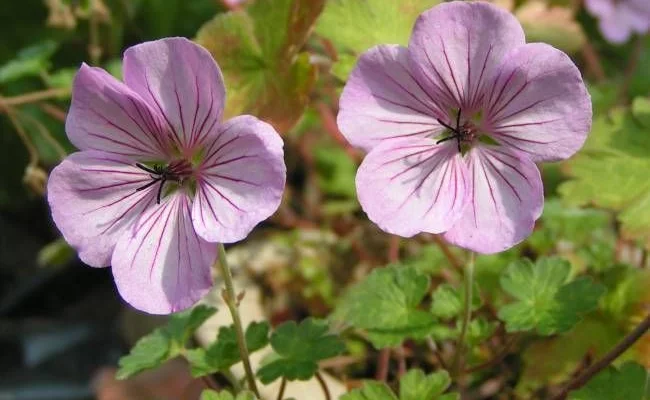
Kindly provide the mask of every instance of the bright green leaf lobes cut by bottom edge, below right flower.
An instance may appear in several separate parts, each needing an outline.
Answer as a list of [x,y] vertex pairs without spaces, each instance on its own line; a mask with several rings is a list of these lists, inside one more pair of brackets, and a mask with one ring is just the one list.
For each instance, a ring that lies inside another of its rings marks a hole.
[[443,394],[451,385],[447,371],[425,375],[419,369],[408,371],[399,383],[399,399],[384,383],[366,381],[362,387],[341,397],[341,400],[454,400],[458,394]]

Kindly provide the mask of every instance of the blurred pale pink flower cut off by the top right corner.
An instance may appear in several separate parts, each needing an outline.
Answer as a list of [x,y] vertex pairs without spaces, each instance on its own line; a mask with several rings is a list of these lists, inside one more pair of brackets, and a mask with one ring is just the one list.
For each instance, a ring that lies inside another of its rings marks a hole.
[[599,19],[600,31],[609,42],[625,43],[632,33],[650,30],[648,0],[586,0],[585,6]]

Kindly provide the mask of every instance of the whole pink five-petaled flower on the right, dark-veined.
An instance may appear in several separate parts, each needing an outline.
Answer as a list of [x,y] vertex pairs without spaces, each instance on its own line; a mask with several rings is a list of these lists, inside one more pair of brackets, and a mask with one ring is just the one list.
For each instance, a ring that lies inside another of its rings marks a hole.
[[356,178],[369,218],[480,253],[530,234],[544,203],[535,162],[571,156],[591,126],[569,57],[526,44],[511,14],[482,2],[441,4],[408,48],[368,50],[340,107],[341,131],[369,151]]

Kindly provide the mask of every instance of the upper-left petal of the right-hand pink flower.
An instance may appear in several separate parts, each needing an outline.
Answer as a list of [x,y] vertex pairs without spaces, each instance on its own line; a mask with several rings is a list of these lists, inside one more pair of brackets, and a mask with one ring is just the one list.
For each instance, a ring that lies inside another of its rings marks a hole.
[[354,146],[370,150],[383,140],[427,136],[446,112],[413,78],[408,50],[377,46],[359,58],[339,101],[338,125]]

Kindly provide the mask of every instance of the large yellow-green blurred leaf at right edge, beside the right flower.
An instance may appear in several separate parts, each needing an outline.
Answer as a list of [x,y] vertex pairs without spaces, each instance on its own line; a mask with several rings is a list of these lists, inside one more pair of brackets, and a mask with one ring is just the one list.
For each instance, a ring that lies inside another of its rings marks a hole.
[[617,211],[624,235],[650,248],[650,127],[639,122],[646,121],[642,104],[636,117],[619,109],[594,121],[585,146],[567,162],[572,179],[558,190],[570,205]]

